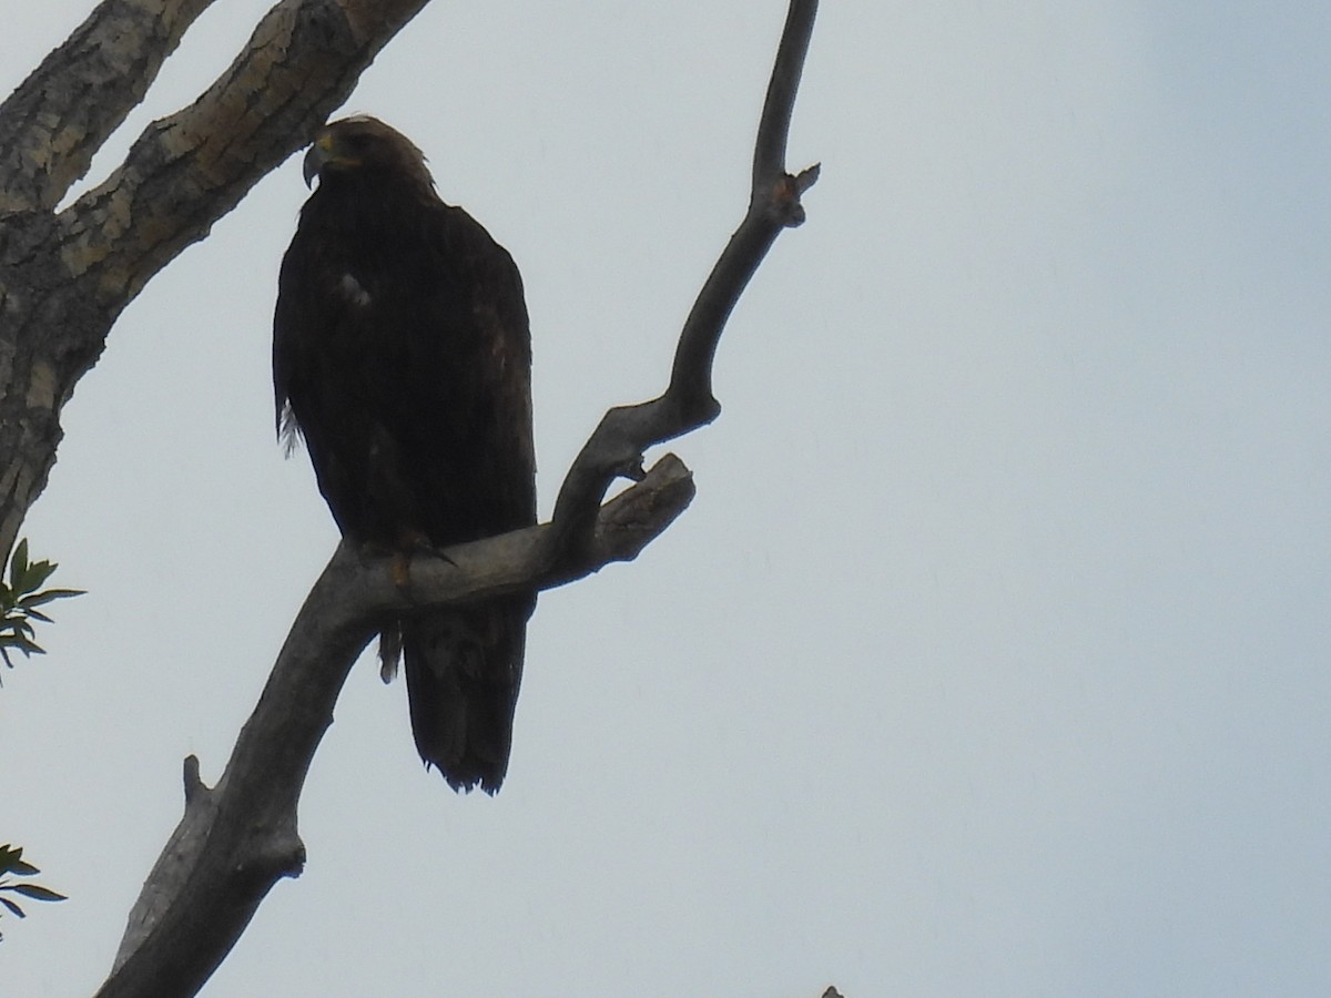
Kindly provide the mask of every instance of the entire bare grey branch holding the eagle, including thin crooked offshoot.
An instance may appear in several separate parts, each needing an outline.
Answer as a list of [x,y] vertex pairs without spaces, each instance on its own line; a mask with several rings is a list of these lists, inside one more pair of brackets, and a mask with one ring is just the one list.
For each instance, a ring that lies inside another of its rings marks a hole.
[[[217,786],[186,760],[185,816],[129,918],[116,969],[98,993],[193,994],[221,962],[268,890],[297,876],[305,848],[297,804],[355,657],[386,616],[514,591],[548,588],[631,560],[687,507],[693,487],[673,455],[643,472],[643,451],[716,418],[711,367],[725,319],[783,228],[803,221],[800,194],[816,170],[785,173],[781,150],[815,0],[792,0],[768,90],[748,213],[708,277],[680,334],[666,393],[612,409],[560,488],[550,524],[415,559],[410,587],[387,563],[341,547],[315,583]],[[780,134],[773,134],[773,129]],[[619,475],[638,484],[602,504]]]

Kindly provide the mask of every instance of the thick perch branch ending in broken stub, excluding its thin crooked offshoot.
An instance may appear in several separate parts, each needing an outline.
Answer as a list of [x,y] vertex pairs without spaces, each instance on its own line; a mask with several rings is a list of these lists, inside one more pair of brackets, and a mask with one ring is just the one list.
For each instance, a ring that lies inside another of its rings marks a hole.
[[297,615],[254,713],[212,789],[185,760],[185,816],[144,884],[110,978],[110,995],[194,994],[226,957],[269,889],[305,862],[297,802],[310,760],[357,656],[386,615],[410,613],[516,589],[572,582],[627,562],[684,511],[688,468],[663,458],[607,503],[591,559],[550,572],[550,527],[459,544],[411,564],[411,584],[393,580],[390,559],[366,563],[342,544]]

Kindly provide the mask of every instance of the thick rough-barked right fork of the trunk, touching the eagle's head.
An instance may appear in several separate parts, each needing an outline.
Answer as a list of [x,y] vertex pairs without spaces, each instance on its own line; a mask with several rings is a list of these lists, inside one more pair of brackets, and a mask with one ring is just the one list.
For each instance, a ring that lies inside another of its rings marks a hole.
[[[125,162],[61,213],[76,278],[128,303],[274,166],[309,145],[426,0],[284,0],[190,106],[154,121]],[[109,303],[109,302],[108,302]]]

